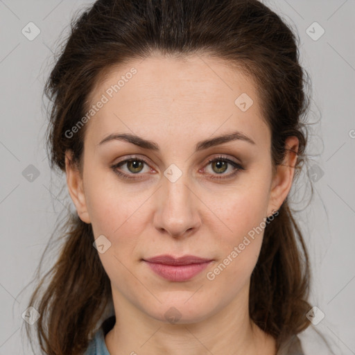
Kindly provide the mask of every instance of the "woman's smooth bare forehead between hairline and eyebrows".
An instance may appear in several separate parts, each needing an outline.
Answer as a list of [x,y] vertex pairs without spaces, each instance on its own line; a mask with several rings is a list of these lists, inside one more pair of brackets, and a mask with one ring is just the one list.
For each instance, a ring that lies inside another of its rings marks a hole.
[[89,107],[99,101],[105,103],[85,138],[95,144],[116,132],[196,141],[235,129],[254,140],[269,135],[254,80],[218,58],[152,55],[112,67],[89,95]]

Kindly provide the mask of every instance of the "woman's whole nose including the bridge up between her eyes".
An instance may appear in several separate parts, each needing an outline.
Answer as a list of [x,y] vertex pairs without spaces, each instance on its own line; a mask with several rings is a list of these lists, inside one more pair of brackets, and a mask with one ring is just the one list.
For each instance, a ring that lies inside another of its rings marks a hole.
[[175,236],[200,225],[189,176],[187,172],[179,171],[176,166],[169,166],[164,172],[155,215],[155,227]]

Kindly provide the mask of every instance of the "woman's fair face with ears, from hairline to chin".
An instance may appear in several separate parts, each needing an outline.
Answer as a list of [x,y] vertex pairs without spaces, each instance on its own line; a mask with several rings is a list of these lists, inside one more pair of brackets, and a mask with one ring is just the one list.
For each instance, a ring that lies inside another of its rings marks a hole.
[[[196,322],[237,302],[248,291],[265,217],[293,177],[272,175],[270,130],[252,80],[222,60],[155,55],[110,70],[89,103],[101,108],[86,123],[83,176],[67,164],[67,182],[80,218],[101,236],[114,300],[164,322],[171,307],[180,322]],[[192,277],[191,268],[169,269],[187,277],[169,279],[144,261],[162,254],[211,261]]]

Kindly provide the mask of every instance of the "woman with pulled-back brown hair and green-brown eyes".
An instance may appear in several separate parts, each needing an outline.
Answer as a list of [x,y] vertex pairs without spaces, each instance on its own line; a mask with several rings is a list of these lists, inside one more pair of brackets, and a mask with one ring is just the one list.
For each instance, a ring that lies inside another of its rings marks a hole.
[[30,302],[44,354],[304,354],[304,81],[257,0],[99,0],[73,23],[46,94],[78,216]]

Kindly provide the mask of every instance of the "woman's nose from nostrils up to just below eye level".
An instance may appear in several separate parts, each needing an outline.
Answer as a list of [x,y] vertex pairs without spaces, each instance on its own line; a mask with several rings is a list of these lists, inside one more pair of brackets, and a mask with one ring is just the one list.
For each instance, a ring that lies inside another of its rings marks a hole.
[[173,237],[191,236],[199,230],[201,218],[198,211],[198,197],[181,177],[171,182],[164,178],[157,191],[157,209],[154,216],[155,228],[160,233]]

